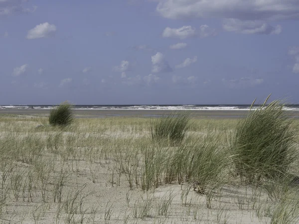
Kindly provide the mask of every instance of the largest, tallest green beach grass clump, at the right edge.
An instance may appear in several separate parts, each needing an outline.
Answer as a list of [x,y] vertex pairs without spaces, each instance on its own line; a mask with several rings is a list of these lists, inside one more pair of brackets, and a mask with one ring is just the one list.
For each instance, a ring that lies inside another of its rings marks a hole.
[[245,182],[285,175],[296,158],[293,120],[280,101],[266,105],[269,97],[239,120],[230,139],[237,174]]

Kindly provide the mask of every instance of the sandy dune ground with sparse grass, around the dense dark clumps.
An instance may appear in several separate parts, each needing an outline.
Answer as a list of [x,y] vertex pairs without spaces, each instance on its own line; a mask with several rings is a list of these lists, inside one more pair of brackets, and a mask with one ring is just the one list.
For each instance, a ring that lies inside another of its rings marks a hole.
[[236,119],[191,118],[180,144],[153,140],[149,118],[35,128],[46,120],[0,117],[3,223],[299,222],[298,185],[282,176],[241,185],[231,172],[225,133]]

